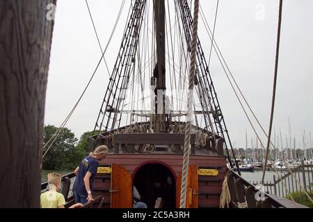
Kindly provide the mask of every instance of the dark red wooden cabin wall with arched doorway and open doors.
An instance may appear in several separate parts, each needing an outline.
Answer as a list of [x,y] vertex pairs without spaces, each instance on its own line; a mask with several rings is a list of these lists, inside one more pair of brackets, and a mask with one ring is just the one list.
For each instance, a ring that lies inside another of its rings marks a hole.
[[[106,207],[132,207],[132,187],[140,189],[148,207],[163,199],[163,207],[179,207],[182,155],[108,155],[100,166],[111,174],[98,173],[95,194],[105,196]],[[219,207],[223,179],[227,173],[225,156],[191,155],[186,207]],[[200,176],[198,169],[217,169],[217,176]]]

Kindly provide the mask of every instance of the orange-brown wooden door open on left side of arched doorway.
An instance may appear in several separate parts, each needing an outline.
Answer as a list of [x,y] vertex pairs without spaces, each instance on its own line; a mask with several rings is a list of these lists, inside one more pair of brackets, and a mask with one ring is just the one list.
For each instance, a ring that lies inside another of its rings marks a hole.
[[130,173],[118,164],[112,164],[111,208],[132,208],[133,194]]

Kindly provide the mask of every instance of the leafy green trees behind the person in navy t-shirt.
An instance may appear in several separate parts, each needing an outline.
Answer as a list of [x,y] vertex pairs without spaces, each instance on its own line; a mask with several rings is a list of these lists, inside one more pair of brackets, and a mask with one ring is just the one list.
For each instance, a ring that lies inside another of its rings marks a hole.
[[[45,126],[44,145],[56,133],[56,130],[58,130],[56,126]],[[43,158],[42,169],[64,170],[76,168],[81,159],[88,154],[88,137],[91,135],[93,135],[93,131],[88,131],[77,139],[70,129],[63,128]]]

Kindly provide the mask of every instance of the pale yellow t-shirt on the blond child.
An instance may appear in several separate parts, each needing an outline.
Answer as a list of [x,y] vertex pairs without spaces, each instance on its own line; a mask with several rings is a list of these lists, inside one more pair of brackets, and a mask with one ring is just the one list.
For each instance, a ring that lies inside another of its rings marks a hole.
[[40,205],[42,208],[58,208],[65,205],[65,198],[57,191],[47,191],[40,195]]

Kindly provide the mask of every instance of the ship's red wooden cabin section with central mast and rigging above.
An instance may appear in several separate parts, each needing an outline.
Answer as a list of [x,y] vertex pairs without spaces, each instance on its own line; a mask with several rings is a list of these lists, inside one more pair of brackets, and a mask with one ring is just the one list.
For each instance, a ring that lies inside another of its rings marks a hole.
[[[89,138],[90,151],[102,144],[110,151],[110,155],[100,163],[94,187],[95,194],[103,196],[102,202],[106,207],[133,207],[133,186],[137,187],[147,207],[180,206],[187,108],[175,103],[187,96],[177,98],[177,93],[173,92],[180,90],[184,94],[188,89],[184,85],[188,81],[182,82],[183,79],[188,80],[193,16],[187,0],[177,0],[172,5],[175,7],[175,23],[179,24],[177,33],[180,32],[177,34],[180,41],[176,43],[179,45],[177,52],[173,52],[175,42],[170,40],[175,37],[170,36],[171,10],[166,1],[136,0],[129,13],[118,58],[95,124],[95,135]],[[146,27],[149,24],[149,7],[153,12],[153,31]],[[149,37],[152,40],[147,44]],[[196,98],[193,101],[185,207],[220,207],[225,176],[229,178],[232,193],[231,207],[239,207],[238,203],[246,203],[246,199],[250,200],[250,207],[257,207],[257,189],[244,181],[239,176],[240,172],[239,175],[232,171],[227,173],[227,159],[230,167],[234,168],[231,161],[234,151],[208,60],[200,39],[197,37],[196,40]],[[150,55],[147,49],[142,50],[145,47],[151,47]],[[147,61],[143,58],[145,56]],[[175,67],[175,62],[179,61]],[[143,64],[147,62],[150,66],[144,69]],[[174,83],[176,78],[182,83],[180,88]],[[136,81],[138,85],[134,85]],[[150,94],[143,93],[145,84],[150,87]],[[172,94],[168,94],[169,88]],[[150,108],[146,104],[138,105],[146,102],[145,96],[150,98]],[[127,98],[129,102],[125,105]],[[238,163],[235,164],[239,168]],[[266,201],[258,202],[259,207],[280,207],[280,204],[269,196]]]

